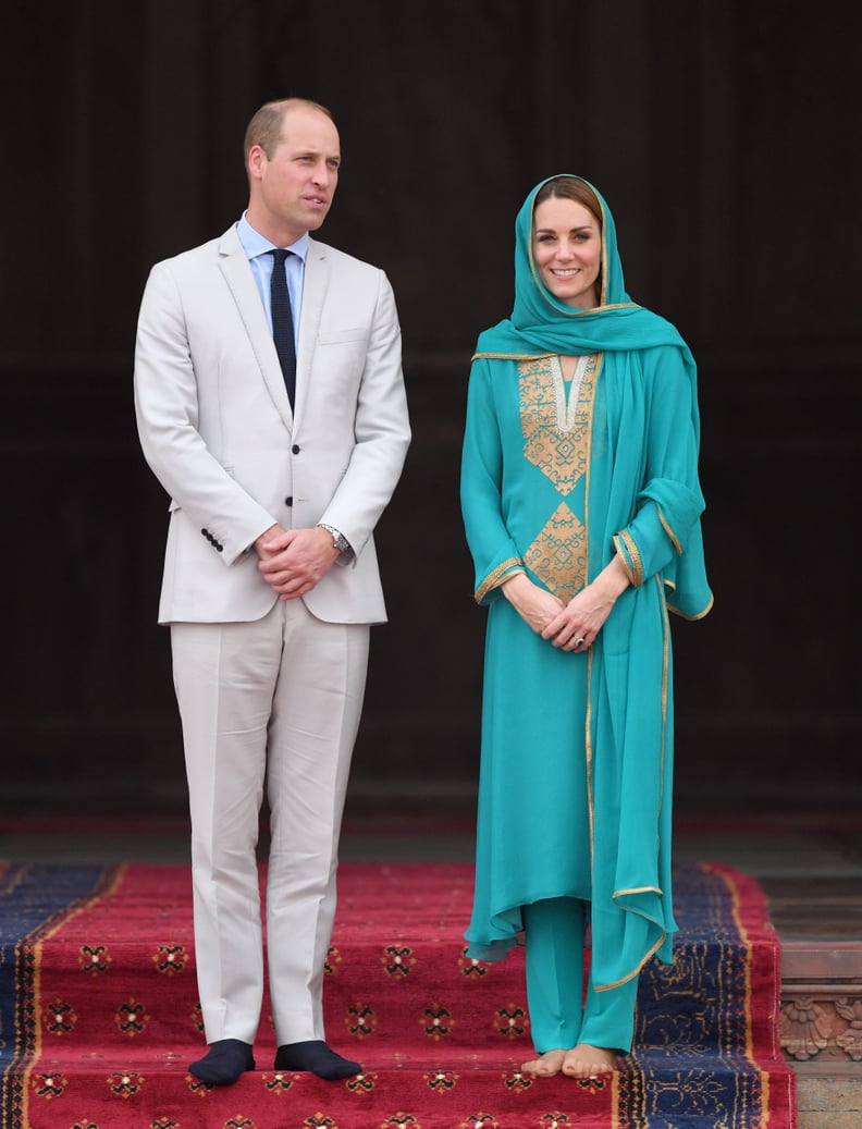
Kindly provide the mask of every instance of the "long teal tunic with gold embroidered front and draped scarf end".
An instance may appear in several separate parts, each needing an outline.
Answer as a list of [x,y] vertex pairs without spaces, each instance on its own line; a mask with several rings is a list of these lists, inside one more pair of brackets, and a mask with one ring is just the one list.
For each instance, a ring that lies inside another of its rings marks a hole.
[[[668,611],[706,614],[697,415],[678,344],[595,352],[574,393],[555,355],[474,359],[461,507],[489,607],[468,954],[504,956],[521,907],[590,903],[592,975],[669,961],[672,669]],[[631,587],[586,654],[502,596],[514,572],[564,603],[614,553]],[[685,564],[694,567],[685,567]]]

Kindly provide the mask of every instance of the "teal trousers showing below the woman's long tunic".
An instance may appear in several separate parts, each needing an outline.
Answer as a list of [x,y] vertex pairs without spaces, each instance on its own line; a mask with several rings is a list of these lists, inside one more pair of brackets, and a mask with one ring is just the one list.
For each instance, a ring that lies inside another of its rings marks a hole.
[[538,1054],[591,1043],[627,1053],[634,1038],[637,977],[596,991],[584,986],[584,903],[549,898],[521,907],[527,1004]]

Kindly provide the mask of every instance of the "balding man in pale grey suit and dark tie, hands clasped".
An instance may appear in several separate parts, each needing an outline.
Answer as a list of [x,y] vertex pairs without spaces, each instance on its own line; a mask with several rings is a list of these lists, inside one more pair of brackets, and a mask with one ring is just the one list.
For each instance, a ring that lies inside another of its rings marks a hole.
[[[308,234],[338,180],[329,112],[267,103],[245,156],[238,222],[153,266],[134,369],[141,446],[171,498],[159,622],[183,727],[209,1043],[190,1069],[209,1085],[255,1068],[264,780],[274,1067],[361,1069],[326,1044],[323,975],[369,627],[386,619],[372,531],[410,443],[392,287]],[[292,254],[280,262],[276,248]]]

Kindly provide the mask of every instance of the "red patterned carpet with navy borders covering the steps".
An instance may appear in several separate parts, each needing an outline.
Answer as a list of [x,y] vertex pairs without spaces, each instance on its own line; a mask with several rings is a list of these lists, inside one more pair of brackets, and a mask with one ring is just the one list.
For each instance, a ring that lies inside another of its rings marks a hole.
[[530,1080],[520,952],[465,959],[467,864],[343,864],[327,1036],[362,1074],[272,1068],[210,1089],[191,874],[0,863],[3,1129],[794,1129],[777,1045],[780,946],[763,893],[722,866],[676,875],[672,968],[641,980],[634,1054],[606,1080]]

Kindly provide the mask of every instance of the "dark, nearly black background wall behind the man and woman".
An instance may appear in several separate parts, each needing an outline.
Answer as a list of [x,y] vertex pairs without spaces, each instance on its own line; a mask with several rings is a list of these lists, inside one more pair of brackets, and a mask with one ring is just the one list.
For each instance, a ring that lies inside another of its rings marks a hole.
[[715,607],[675,625],[680,802],[859,797],[862,20],[844,8],[6,6],[3,798],[182,803],[155,622],[167,498],[134,431],[134,324],[151,263],[241,211],[246,122],[285,94],[338,123],[320,237],[395,286],[414,427],[379,528],[390,623],[373,632],[354,790],[475,785],[469,356],[510,312],[524,196],[574,172],[615,213],[630,292],[700,366]]

